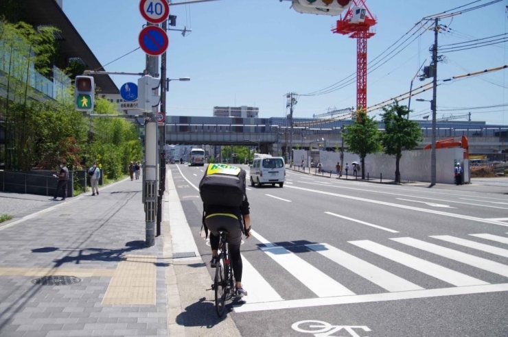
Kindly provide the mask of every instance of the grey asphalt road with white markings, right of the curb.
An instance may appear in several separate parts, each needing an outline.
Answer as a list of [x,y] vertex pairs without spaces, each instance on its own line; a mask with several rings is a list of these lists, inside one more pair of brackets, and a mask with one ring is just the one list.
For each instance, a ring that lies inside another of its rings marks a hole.
[[[200,227],[204,168],[168,168]],[[242,336],[508,336],[508,195],[455,187],[292,171],[249,186],[249,296],[228,314]]]

